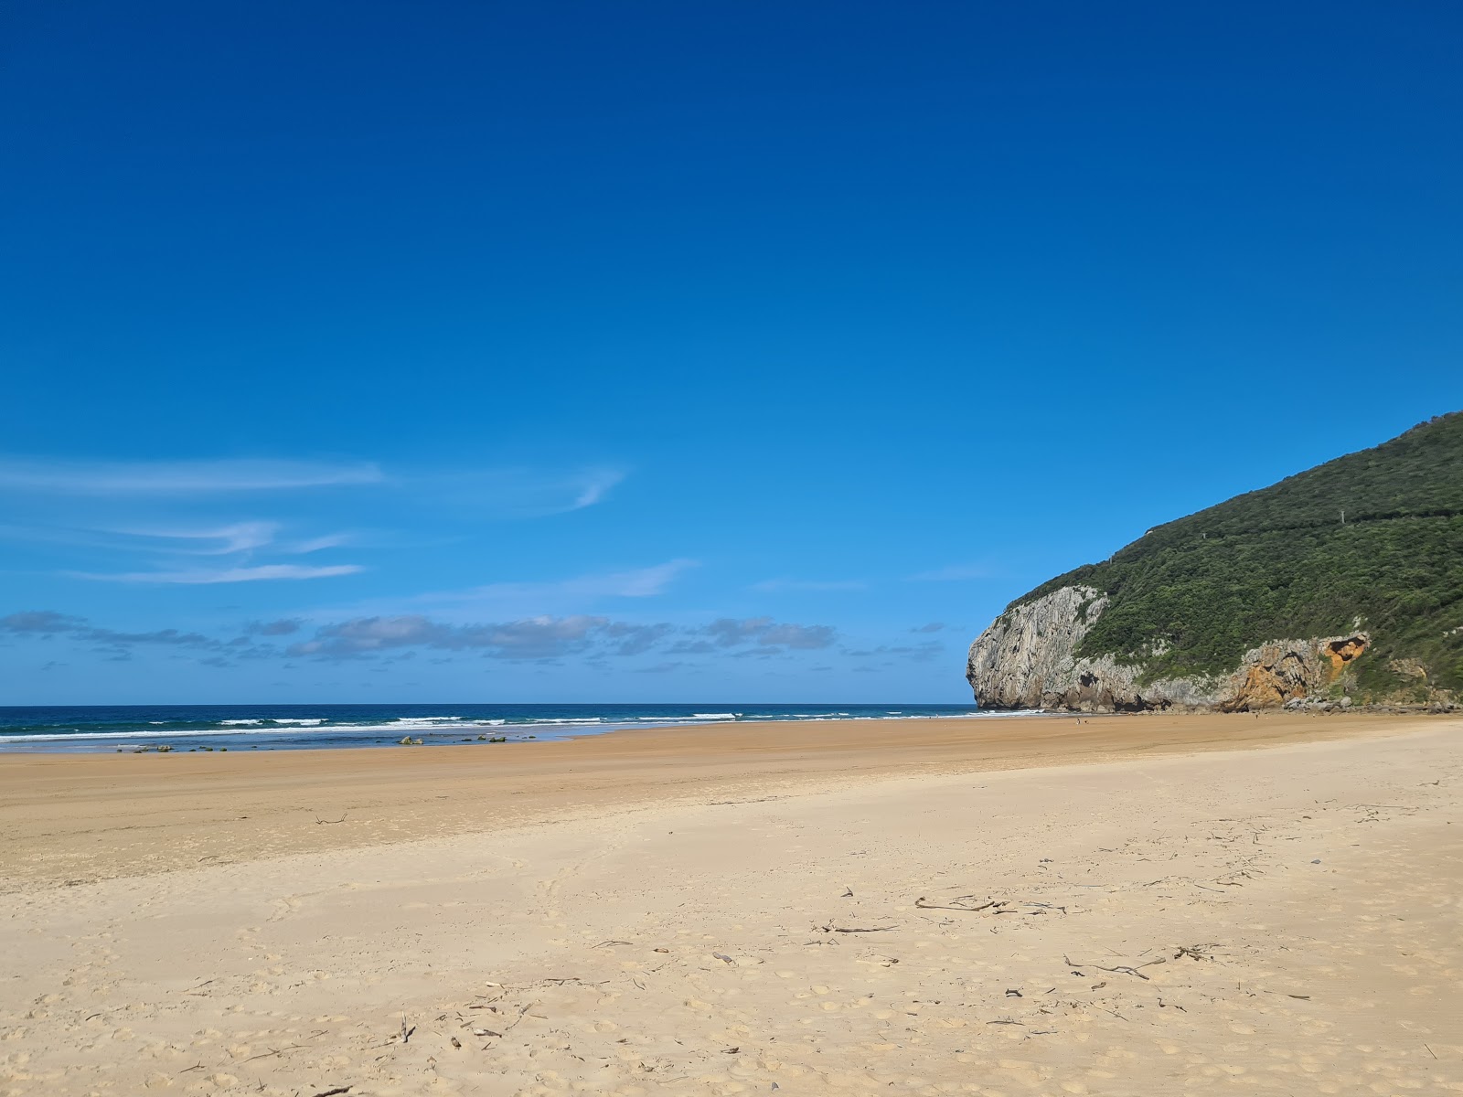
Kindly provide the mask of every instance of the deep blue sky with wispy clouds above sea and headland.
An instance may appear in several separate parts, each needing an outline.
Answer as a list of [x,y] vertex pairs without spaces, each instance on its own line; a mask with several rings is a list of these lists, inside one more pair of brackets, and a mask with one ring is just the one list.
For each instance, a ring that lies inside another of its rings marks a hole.
[[1463,407],[1447,3],[12,3],[0,702],[951,701]]

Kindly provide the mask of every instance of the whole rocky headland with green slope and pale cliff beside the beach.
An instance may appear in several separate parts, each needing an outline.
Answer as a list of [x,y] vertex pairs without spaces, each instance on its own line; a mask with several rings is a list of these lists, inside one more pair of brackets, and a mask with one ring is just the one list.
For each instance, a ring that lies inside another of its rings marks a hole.
[[982,708],[1251,711],[1463,698],[1463,414],[1150,529],[976,639]]

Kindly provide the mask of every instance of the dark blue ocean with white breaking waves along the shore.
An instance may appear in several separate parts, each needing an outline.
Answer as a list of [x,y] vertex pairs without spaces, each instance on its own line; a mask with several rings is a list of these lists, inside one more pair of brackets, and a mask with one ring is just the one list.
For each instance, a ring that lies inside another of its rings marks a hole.
[[80,705],[0,706],[0,752],[307,750],[569,739],[633,727],[998,717],[974,705]]

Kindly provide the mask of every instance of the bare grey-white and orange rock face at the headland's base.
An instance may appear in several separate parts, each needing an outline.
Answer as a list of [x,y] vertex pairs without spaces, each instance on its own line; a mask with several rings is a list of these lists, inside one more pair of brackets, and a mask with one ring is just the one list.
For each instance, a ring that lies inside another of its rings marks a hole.
[[1075,654],[1106,607],[1091,587],[1062,587],[1002,613],[970,645],[966,677],[976,704],[1078,712],[1274,708],[1330,685],[1366,646],[1364,633],[1271,641],[1245,652],[1230,674],[1140,686],[1141,667]]

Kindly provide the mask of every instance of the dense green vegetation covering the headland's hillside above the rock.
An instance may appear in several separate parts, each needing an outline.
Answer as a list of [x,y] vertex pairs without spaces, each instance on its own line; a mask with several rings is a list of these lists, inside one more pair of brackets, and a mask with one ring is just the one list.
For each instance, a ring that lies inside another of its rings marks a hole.
[[1157,527],[1015,604],[1074,584],[1109,595],[1080,654],[1144,680],[1223,674],[1265,641],[1359,620],[1364,698],[1463,692],[1463,412]]

